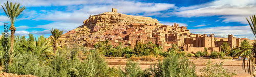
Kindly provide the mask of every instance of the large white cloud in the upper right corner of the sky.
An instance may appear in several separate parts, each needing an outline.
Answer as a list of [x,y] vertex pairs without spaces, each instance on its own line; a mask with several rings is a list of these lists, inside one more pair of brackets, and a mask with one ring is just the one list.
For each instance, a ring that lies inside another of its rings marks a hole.
[[206,17],[221,16],[222,22],[239,22],[248,24],[245,17],[254,15],[256,12],[256,1],[250,0],[216,0],[205,4],[181,7],[174,12],[163,13],[167,16],[179,17]]

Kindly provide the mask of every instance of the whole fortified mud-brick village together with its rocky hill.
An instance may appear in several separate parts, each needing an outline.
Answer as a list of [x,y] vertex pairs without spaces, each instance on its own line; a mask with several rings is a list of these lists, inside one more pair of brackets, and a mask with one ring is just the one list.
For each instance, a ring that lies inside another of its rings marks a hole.
[[227,42],[231,48],[240,45],[240,38],[228,35],[228,41],[220,39],[216,41],[214,34],[193,34],[185,26],[163,25],[157,19],[142,16],[132,16],[117,13],[117,9],[112,12],[105,12],[99,15],[90,15],[83,22],[82,26],[63,34],[59,41],[59,46],[80,44],[86,47],[94,47],[95,43],[110,40],[115,47],[122,42],[124,47],[135,47],[136,43],[147,43],[162,46],[164,51],[176,44],[183,51],[195,53],[204,51],[220,51],[223,42]]

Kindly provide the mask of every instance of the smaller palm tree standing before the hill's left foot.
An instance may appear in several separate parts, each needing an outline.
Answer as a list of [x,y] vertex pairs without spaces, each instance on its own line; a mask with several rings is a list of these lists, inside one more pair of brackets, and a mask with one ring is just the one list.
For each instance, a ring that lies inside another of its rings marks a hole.
[[58,41],[58,38],[61,37],[61,35],[63,34],[63,31],[59,31],[59,29],[56,29],[56,28],[53,30],[52,28],[51,33],[52,33],[52,36],[50,36],[50,38],[53,42],[53,51],[54,53],[56,53],[57,41]]

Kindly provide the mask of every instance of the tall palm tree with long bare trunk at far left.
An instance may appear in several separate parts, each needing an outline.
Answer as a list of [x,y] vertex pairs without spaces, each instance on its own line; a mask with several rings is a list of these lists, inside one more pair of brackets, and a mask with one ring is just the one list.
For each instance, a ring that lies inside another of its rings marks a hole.
[[4,9],[5,14],[9,18],[9,21],[11,22],[11,26],[9,28],[9,30],[11,30],[11,49],[10,49],[10,53],[12,52],[13,47],[14,47],[14,38],[15,38],[14,34],[15,34],[15,31],[16,31],[14,23],[15,23],[17,17],[20,15],[20,13],[22,13],[22,11],[25,9],[24,6],[22,8],[20,8],[20,4],[18,4],[17,6],[16,6],[16,4],[17,3],[15,3],[13,5],[12,2],[11,2],[10,5],[9,5],[9,3],[7,1],[7,4],[5,4],[6,9],[1,5],[2,8]]

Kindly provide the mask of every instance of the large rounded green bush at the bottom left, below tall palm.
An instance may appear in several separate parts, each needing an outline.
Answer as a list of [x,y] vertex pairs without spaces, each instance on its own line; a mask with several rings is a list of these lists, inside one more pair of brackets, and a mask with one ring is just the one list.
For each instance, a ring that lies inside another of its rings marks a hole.
[[36,76],[49,76],[49,67],[39,65],[36,55],[24,53],[18,54],[13,63],[8,66],[8,73],[32,74]]

